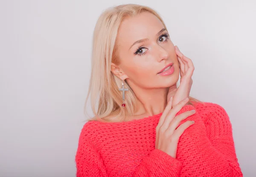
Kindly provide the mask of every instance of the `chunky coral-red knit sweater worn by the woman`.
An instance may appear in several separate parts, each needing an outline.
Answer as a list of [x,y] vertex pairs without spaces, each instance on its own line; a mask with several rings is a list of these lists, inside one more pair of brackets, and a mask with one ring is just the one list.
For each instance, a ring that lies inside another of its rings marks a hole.
[[193,103],[177,113],[196,110],[186,118],[195,123],[181,135],[176,158],[155,149],[162,113],[129,122],[85,123],[77,177],[242,177],[227,112],[215,103]]

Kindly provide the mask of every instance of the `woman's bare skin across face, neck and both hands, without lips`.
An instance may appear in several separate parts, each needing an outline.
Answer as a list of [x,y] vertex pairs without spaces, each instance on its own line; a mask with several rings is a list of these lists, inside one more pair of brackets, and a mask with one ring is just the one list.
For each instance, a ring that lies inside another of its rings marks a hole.
[[[195,110],[176,116],[189,101],[194,66],[173,45],[168,35],[163,36],[166,32],[154,14],[143,12],[135,17],[127,17],[121,23],[117,35],[120,63],[112,63],[111,71],[127,81],[139,100],[136,105],[139,108],[137,113],[132,117],[125,117],[125,120],[163,112],[156,127],[155,148],[176,158],[180,136],[194,123],[188,120],[180,124],[182,120],[195,114]],[[134,43],[142,39],[147,40]],[[140,48],[139,54],[134,54],[139,47],[143,48]],[[159,75],[169,63],[174,63],[174,73],[169,76]],[[179,74],[180,86],[177,88]]]

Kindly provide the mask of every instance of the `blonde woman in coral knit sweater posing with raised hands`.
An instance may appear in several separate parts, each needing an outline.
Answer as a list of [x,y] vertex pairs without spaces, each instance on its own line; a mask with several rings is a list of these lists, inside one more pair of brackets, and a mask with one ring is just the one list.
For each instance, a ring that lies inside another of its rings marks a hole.
[[154,10],[102,13],[87,96],[96,116],[80,134],[77,177],[241,177],[227,112],[189,97],[193,71]]

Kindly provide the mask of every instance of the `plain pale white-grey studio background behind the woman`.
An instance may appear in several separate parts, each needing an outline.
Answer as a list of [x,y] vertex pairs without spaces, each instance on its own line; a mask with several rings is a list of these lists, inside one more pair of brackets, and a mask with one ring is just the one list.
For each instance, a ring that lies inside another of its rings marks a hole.
[[191,96],[223,106],[256,174],[256,2],[0,0],[0,177],[75,177],[93,28],[109,6],[156,9],[195,65]]

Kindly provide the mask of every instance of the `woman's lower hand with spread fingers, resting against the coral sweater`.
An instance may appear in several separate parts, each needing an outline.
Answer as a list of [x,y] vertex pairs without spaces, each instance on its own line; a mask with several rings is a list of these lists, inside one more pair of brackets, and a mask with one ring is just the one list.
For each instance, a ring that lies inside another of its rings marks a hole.
[[188,120],[180,126],[179,124],[182,120],[185,120],[187,117],[195,114],[195,111],[186,111],[176,116],[183,106],[186,105],[188,100],[184,99],[173,107],[172,99],[173,97],[171,97],[170,101],[167,103],[167,106],[157,124],[155,148],[166,152],[166,154],[169,154],[173,158],[176,158],[177,144],[180,136],[183,134],[185,129],[194,124],[194,122]]

